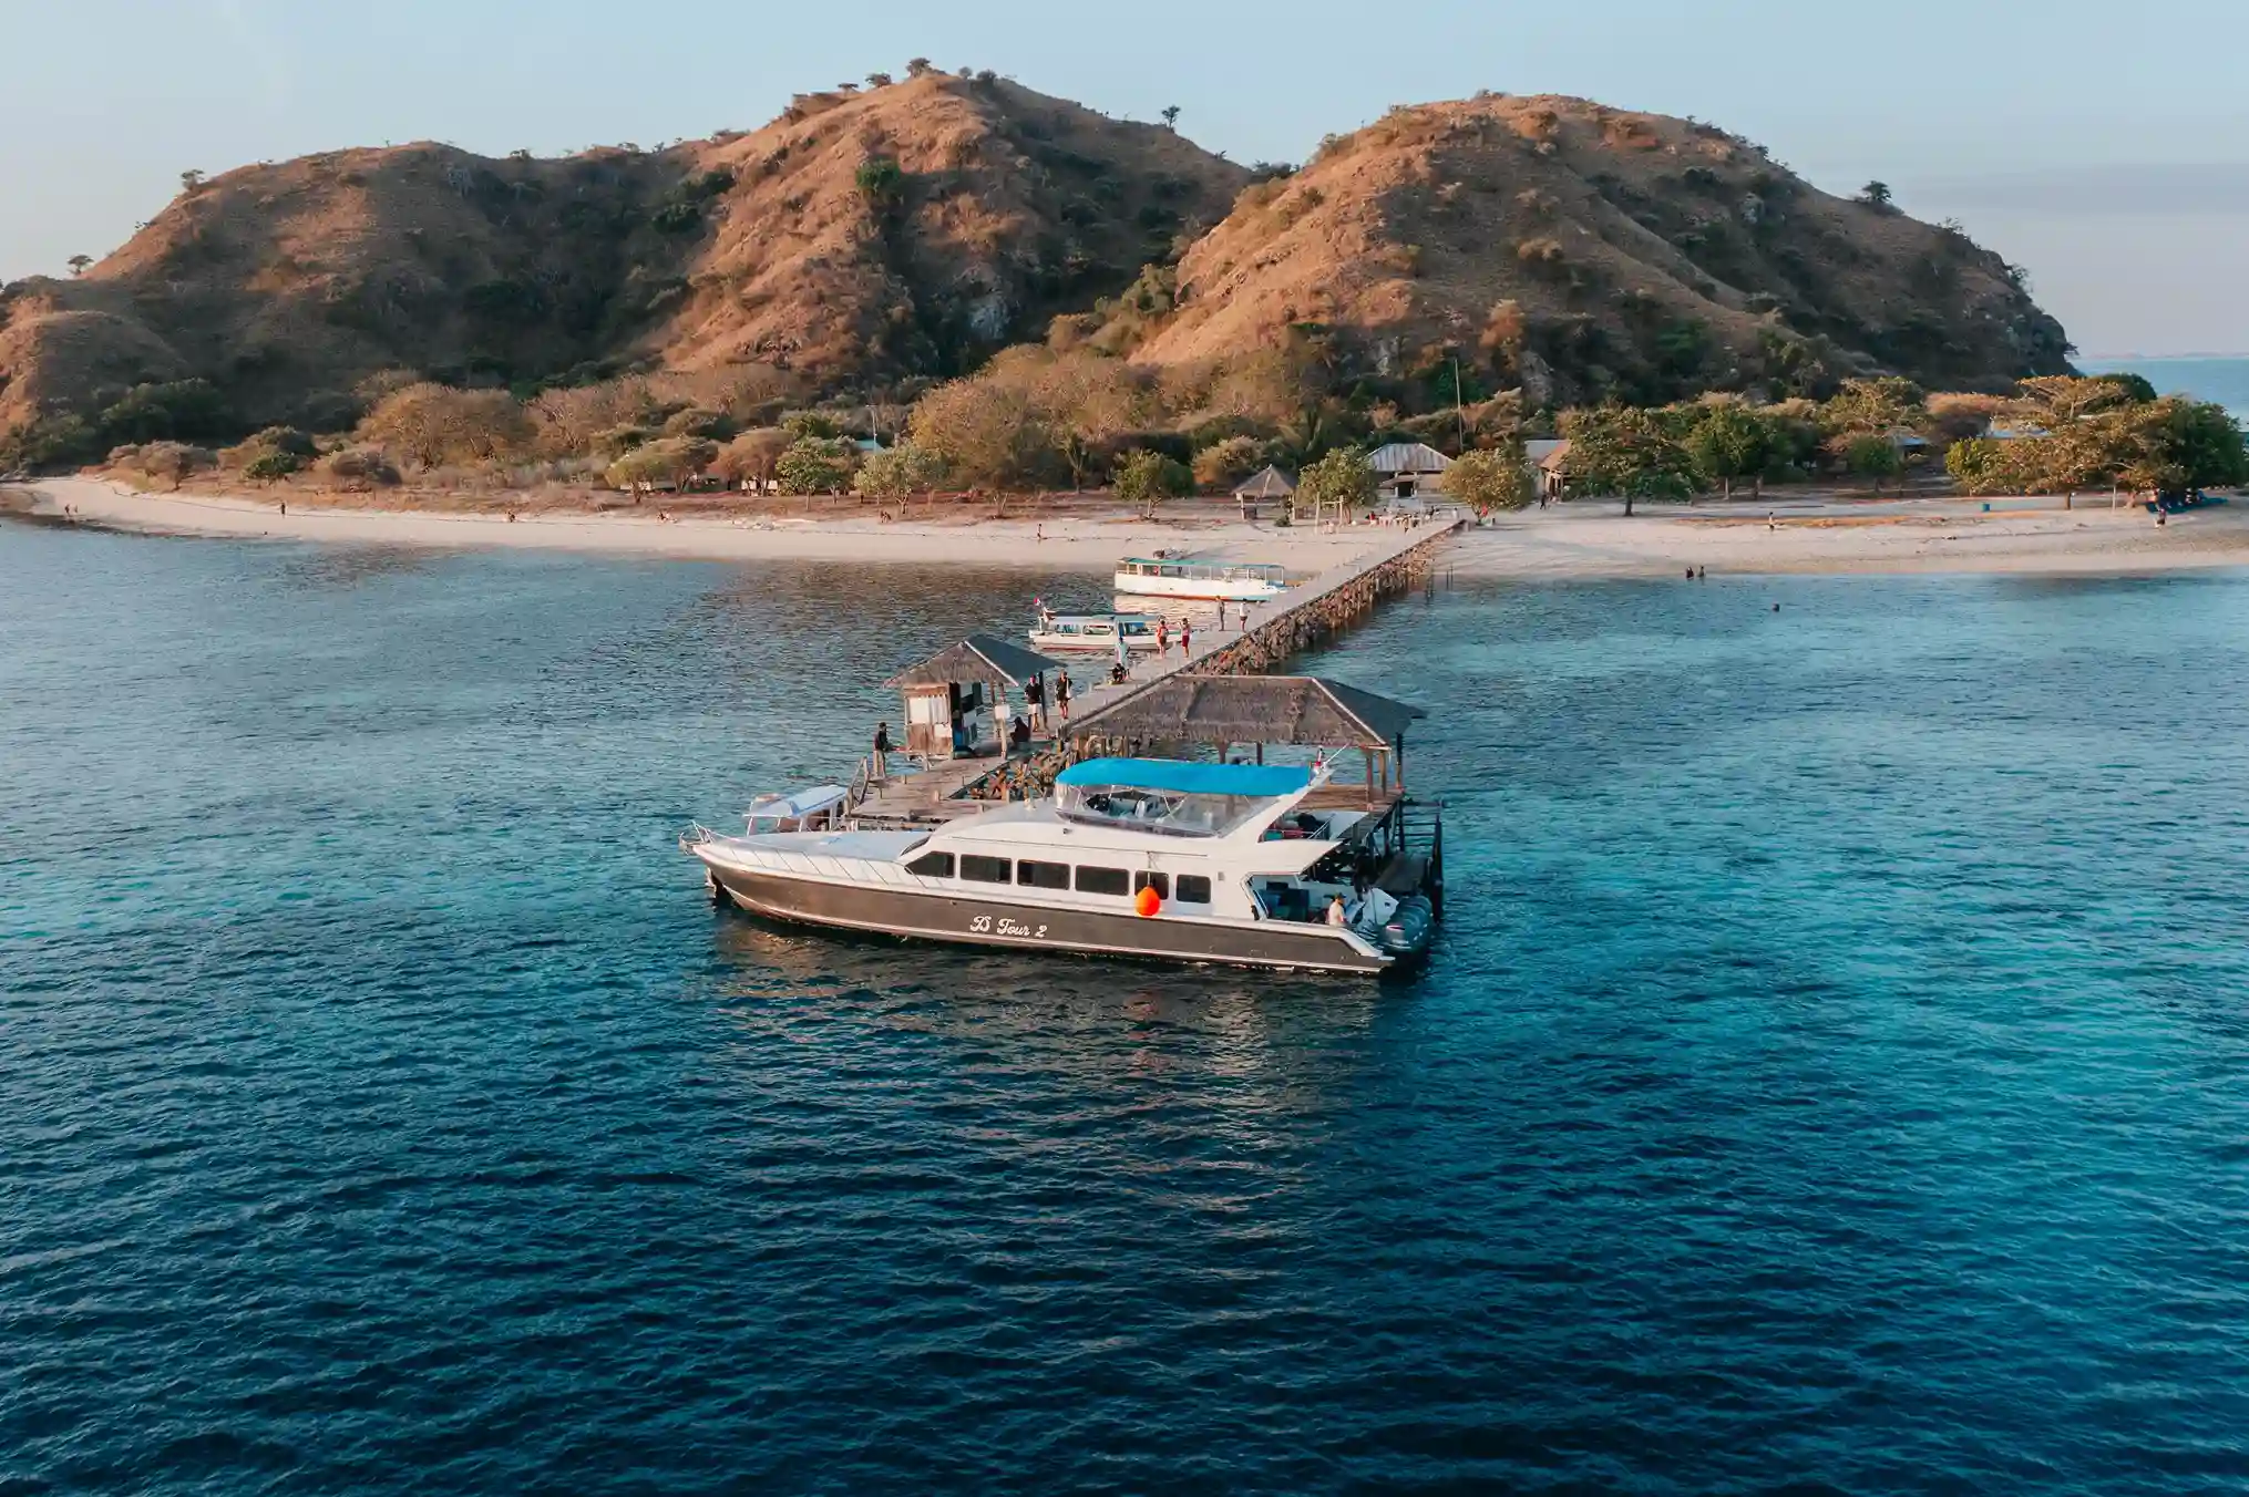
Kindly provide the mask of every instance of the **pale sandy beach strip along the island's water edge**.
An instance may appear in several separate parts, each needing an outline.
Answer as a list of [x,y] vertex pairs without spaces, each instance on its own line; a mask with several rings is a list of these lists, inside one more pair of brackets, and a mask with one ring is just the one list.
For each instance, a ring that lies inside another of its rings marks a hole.
[[[7,490],[7,499],[0,508],[16,515],[142,535],[1055,571],[1107,571],[1118,557],[1174,548],[1316,573],[1356,555],[1372,537],[1390,535],[1277,528],[1210,512],[1154,521],[1122,512],[951,521],[526,512],[508,521],[504,512],[313,503],[281,515],[279,503],[263,497],[146,495],[106,479],[45,479]],[[1687,566],[1732,575],[2103,575],[2249,566],[2249,503],[2175,515],[2157,526],[2146,510],[2112,508],[2105,495],[2085,497],[2071,510],[2058,499],[2011,499],[1984,510],[1968,499],[1768,495],[1689,508],[1642,506],[1631,519],[1615,501],[1572,501],[1498,515],[1491,526],[1464,530],[1442,560],[1455,578],[1518,580],[1662,578]]]

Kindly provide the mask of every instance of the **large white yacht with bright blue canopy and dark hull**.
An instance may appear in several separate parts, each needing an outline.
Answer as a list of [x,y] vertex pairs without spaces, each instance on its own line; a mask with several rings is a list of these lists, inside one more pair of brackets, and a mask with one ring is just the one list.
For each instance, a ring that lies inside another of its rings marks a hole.
[[1089,955],[1379,973],[1428,951],[1424,895],[1374,886],[1327,771],[1089,760],[1055,798],[906,832],[771,832],[681,847],[722,899],[807,926]]

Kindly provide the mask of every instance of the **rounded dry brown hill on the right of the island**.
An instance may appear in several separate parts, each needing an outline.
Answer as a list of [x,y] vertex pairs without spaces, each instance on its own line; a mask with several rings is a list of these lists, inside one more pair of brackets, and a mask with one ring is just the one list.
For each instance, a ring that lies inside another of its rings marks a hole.
[[1250,187],[1136,357],[1291,328],[1370,373],[1462,357],[1534,405],[2067,369],[2060,324],[1957,229],[1831,198],[1711,126],[1561,97],[1392,110]]

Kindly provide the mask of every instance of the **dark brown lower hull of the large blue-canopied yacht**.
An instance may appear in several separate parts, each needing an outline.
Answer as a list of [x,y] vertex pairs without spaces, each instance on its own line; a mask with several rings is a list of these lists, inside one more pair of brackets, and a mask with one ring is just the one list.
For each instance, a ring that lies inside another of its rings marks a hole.
[[740,908],[801,926],[875,931],[958,946],[1075,951],[1084,955],[1223,962],[1282,971],[1381,973],[1370,958],[1327,926],[1259,922],[1219,926],[1199,919],[1057,910],[895,888],[819,883],[708,863],[713,883]]

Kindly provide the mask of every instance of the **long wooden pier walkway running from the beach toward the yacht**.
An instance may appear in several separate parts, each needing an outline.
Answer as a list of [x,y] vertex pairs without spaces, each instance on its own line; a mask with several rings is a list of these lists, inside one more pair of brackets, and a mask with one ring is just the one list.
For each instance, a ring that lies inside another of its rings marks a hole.
[[[1093,681],[1071,695],[1071,722],[1062,722],[1048,699],[1048,735],[1030,755],[1005,757],[994,744],[978,757],[933,764],[924,773],[886,778],[864,787],[855,818],[864,825],[915,825],[951,820],[990,809],[1010,798],[1010,780],[1044,789],[1068,762],[1080,726],[1100,733],[1100,717],[1160,681],[1174,677],[1264,674],[1293,654],[1318,645],[1349,623],[1372,614],[1385,598],[1419,587],[1437,551],[1464,521],[1424,521],[1408,530],[1370,535],[1365,551],[1322,571],[1271,602],[1248,605],[1248,623],[1232,629],[1196,629],[1194,650],[1165,650],[1133,661],[1122,683],[1109,683],[1109,663],[1089,659]],[[1239,618],[1241,605],[1226,605]],[[1073,681],[1075,686],[1075,681]],[[994,784],[983,784],[994,780]],[[857,789],[857,787],[855,787]]]

